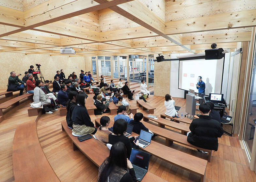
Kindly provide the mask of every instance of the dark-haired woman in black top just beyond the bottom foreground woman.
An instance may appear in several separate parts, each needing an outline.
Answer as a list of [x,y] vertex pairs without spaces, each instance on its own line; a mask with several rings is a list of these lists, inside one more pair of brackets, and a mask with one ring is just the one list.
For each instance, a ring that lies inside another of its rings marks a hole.
[[[114,145],[117,142],[122,142],[124,143],[126,149],[127,149],[127,158],[130,158],[132,148],[138,149],[138,143],[139,141],[137,140],[136,143],[135,137],[128,138],[124,136],[124,132],[126,131],[127,128],[127,123],[123,119],[118,119],[115,121],[113,125],[113,133],[109,134],[108,136],[108,143]],[[137,136],[136,136],[137,137]]]

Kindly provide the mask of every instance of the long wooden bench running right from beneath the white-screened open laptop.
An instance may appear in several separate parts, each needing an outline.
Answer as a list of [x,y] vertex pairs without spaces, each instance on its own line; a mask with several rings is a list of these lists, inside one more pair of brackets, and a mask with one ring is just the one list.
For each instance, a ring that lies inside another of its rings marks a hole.
[[[100,119],[95,119],[96,127],[100,125],[99,121],[100,121]],[[113,124],[114,124],[114,121],[110,120],[109,127],[112,127]],[[155,127],[157,127],[157,126],[155,126]],[[158,128],[165,130],[160,127],[158,127]],[[166,131],[168,131],[168,130],[166,130]],[[137,135],[138,134],[135,134],[134,132],[132,132],[132,136],[137,136]],[[180,134],[180,136],[184,136],[184,135]],[[205,179],[207,161],[204,159],[198,158],[196,156],[184,153],[184,152],[176,150],[176,149],[172,149],[168,146],[162,145],[153,140],[151,140],[151,143],[149,146],[147,146],[144,149],[142,149],[142,148],[140,148],[140,149],[150,153],[151,155],[153,155],[159,159],[162,159],[168,163],[171,163],[177,167],[180,167],[180,168],[187,170],[191,173],[199,175],[201,182],[203,182]]]

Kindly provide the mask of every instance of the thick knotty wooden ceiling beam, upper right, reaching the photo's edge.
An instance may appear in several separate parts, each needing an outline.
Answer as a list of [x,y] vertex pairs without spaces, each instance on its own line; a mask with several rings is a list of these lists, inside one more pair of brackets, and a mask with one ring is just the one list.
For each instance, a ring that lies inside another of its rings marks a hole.
[[256,26],[256,9],[166,22],[167,35]]

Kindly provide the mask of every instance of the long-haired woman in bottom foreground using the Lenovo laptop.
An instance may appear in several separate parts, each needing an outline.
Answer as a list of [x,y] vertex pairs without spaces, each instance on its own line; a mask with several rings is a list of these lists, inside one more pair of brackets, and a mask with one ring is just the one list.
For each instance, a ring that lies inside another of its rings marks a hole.
[[126,158],[127,150],[122,142],[111,147],[107,157],[99,168],[98,182],[136,182],[132,163]]

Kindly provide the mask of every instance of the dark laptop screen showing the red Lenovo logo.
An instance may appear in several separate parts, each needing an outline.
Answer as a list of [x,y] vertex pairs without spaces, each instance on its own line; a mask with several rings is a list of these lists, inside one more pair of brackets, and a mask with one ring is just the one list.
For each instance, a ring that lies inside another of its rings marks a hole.
[[148,170],[149,160],[150,160],[149,153],[132,149],[131,156],[130,156],[130,161],[132,162],[132,164]]

